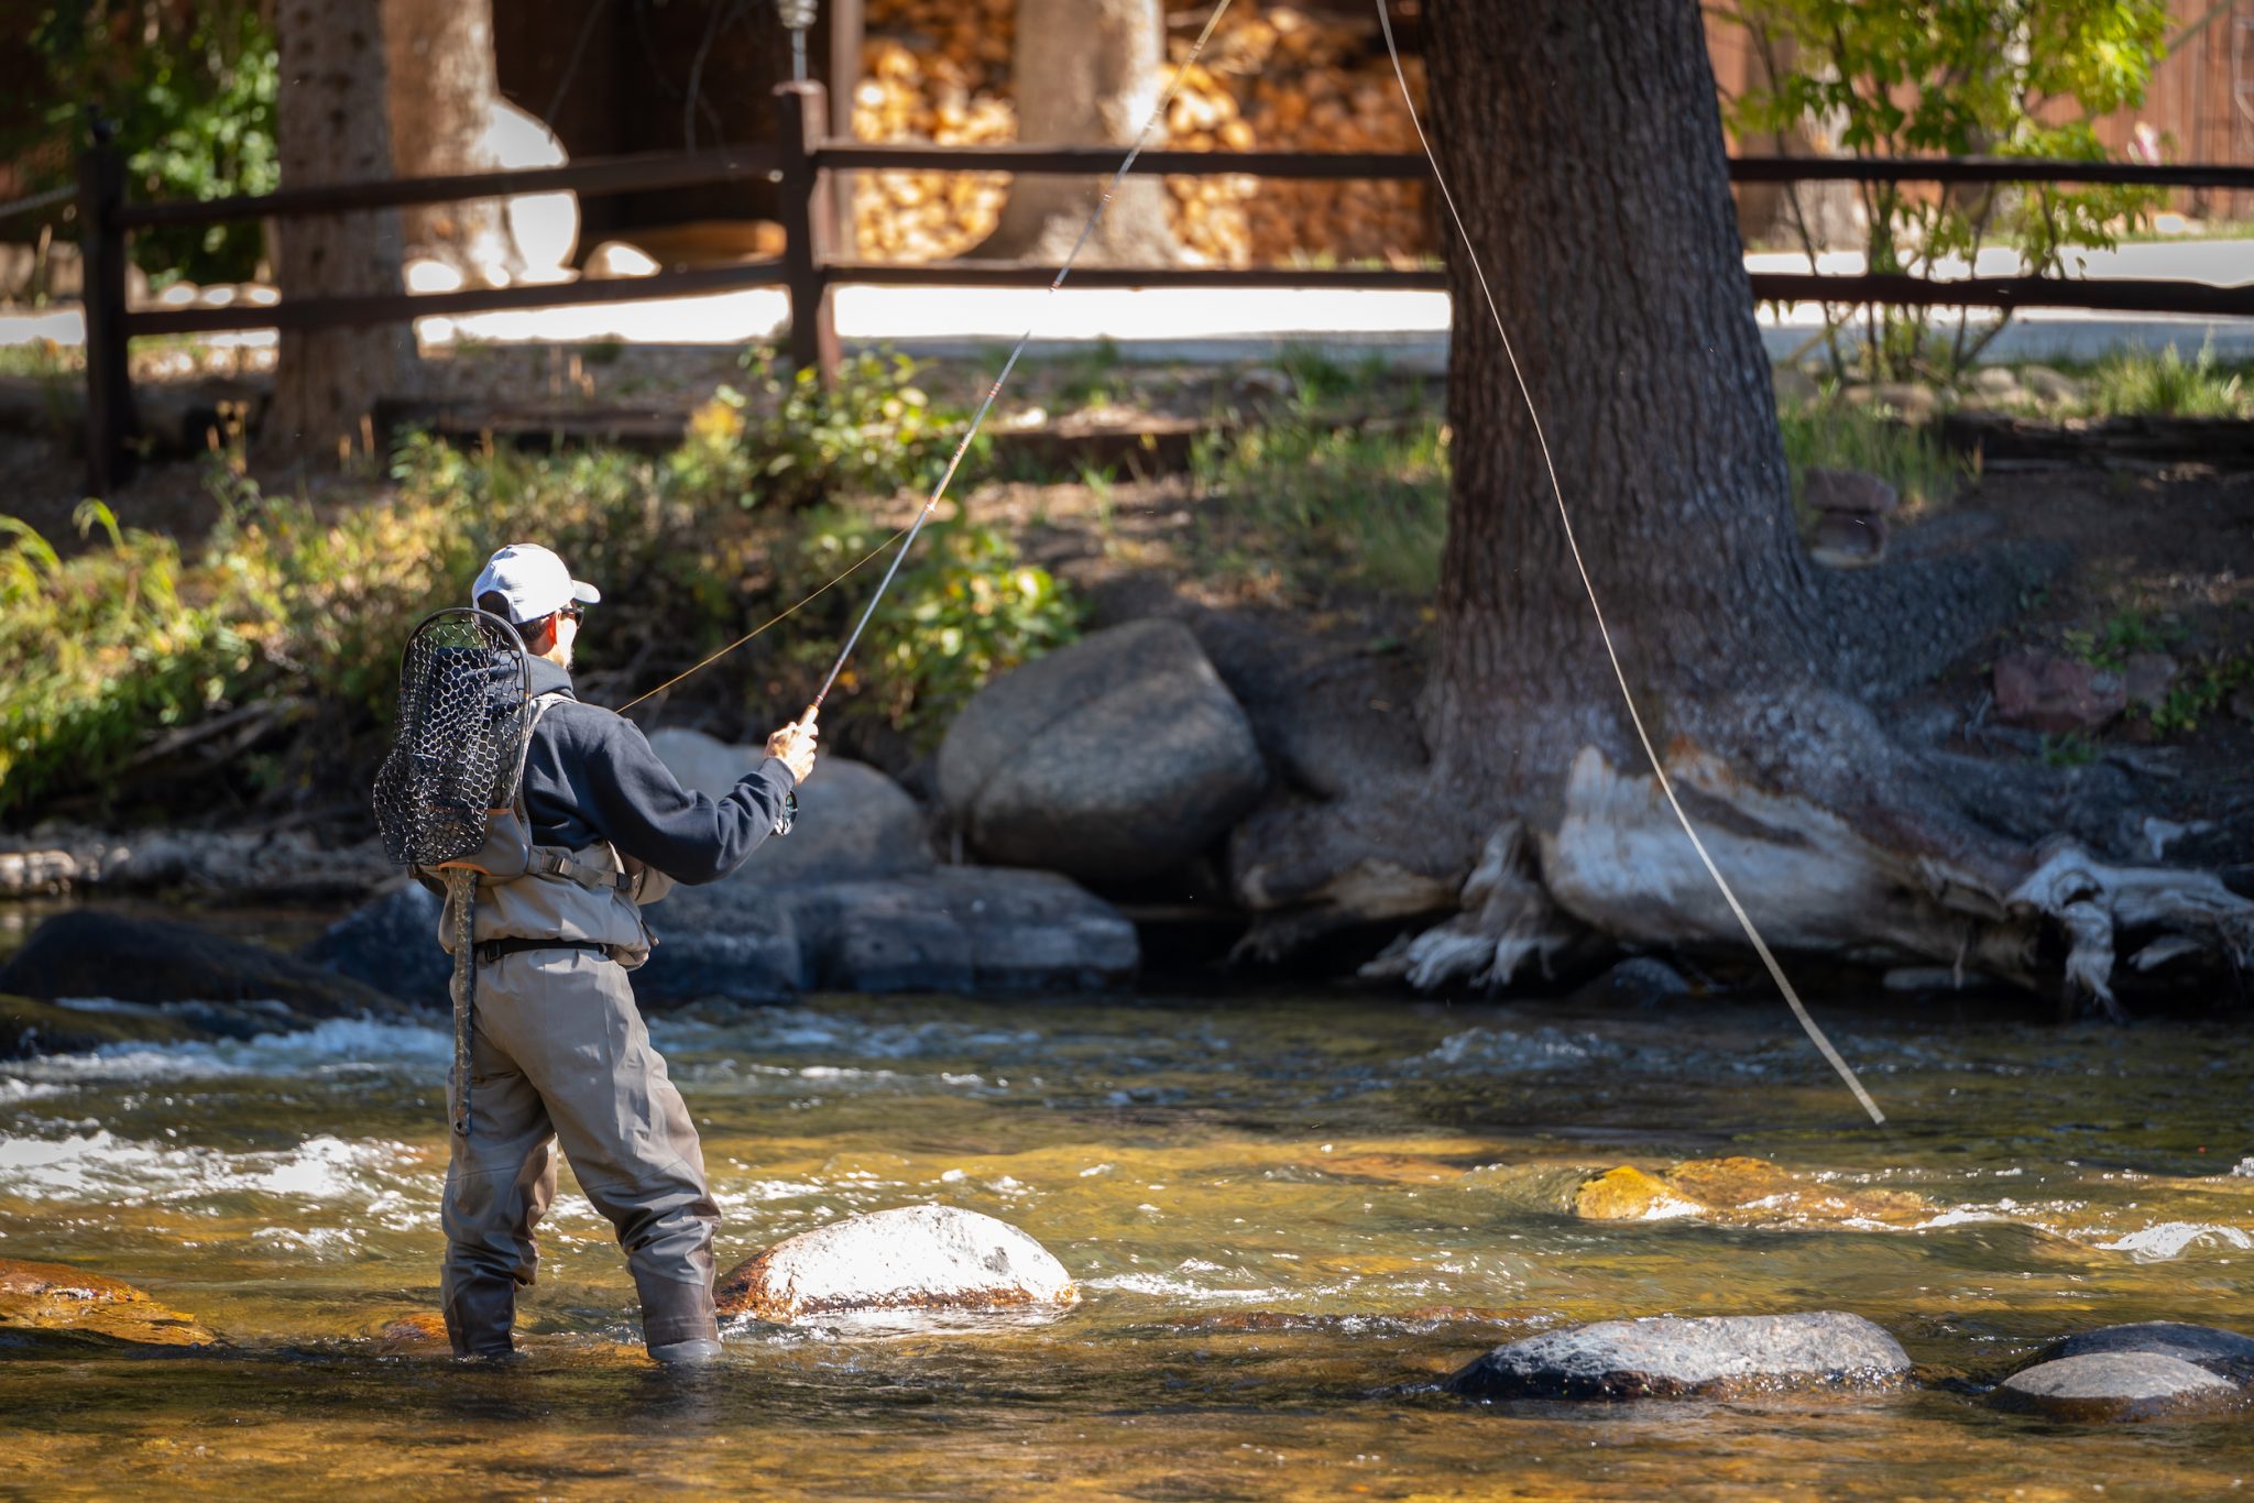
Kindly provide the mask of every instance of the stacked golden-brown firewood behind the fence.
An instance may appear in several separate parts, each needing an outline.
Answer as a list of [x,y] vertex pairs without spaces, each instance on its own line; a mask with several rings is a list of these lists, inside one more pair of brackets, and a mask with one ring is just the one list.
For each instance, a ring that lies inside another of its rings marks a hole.
[[[868,0],[854,135],[877,142],[1017,140],[1010,106],[1014,0]],[[1195,32],[1170,43],[1183,68]],[[1409,86],[1425,101],[1420,59]],[[1186,151],[1413,151],[1375,23],[1240,0],[1168,113]],[[854,178],[857,252],[929,261],[971,250],[1008,198],[1005,174],[872,171]],[[1168,178],[1174,237],[1192,261],[1416,261],[1436,252],[1416,183],[1296,183],[1244,174]]]

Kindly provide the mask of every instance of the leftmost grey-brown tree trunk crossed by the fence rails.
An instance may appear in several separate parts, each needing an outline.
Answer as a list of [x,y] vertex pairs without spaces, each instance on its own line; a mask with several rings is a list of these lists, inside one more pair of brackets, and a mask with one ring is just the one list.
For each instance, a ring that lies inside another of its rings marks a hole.
[[[284,187],[385,178],[383,20],[376,0],[282,0],[275,137]],[[284,297],[397,293],[399,214],[291,219],[277,232]],[[399,324],[284,329],[264,442],[284,455],[336,460],[361,448],[376,397],[415,367]]]

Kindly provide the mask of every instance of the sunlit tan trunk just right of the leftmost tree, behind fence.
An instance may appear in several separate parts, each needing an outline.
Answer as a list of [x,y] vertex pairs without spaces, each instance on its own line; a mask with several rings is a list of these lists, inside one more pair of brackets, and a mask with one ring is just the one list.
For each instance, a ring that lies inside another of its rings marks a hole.
[[[500,77],[491,0],[383,0],[392,167],[437,178],[503,167],[491,149]],[[507,286],[521,270],[500,198],[426,203],[401,212],[410,257],[446,261],[476,286]]]

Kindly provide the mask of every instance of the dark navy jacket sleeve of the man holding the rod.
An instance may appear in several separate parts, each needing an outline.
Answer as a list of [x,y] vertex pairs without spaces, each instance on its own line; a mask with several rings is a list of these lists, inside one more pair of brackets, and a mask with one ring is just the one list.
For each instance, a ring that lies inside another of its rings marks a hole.
[[586,813],[604,838],[687,886],[744,865],[796,786],[791,768],[769,757],[724,798],[706,798],[681,786],[640,726],[615,717],[586,746],[582,768]]

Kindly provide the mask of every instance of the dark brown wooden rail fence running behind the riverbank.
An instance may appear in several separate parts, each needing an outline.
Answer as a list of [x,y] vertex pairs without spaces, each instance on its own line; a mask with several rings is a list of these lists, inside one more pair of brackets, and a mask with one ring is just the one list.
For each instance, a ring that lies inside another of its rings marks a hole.
[[[694,153],[588,158],[568,167],[286,187],[255,198],[131,203],[124,158],[106,140],[81,158],[79,243],[86,275],[86,469],[92,493],[108,493],[126,478],[133,388],[126,376],[128,340],[151,333],[216,333],[234,329],[320,329],[399,322],[494,309],[548,309],[591,302],[687,297],[746,286],[789,291],[789,352],[827,379],[838,363],[832,291],[841,284],[879,286],[1048,286],[1053,268],[1014,261],[879,264],[836,255],[836,185],[850,171],[1010,171],[1109,176],[1116,146],[924,146],[870,144],[829,135],[827,90],[820,83],[782,83],[775,90],[780,131],[773,144],[726,146]],[[1425,180],[1422,155],[1301,153],[1301,151],[1145,151],[1138,174],[1249,174],[1267,178],[1386,178]],[[1738,183],[2123,183],[2139,187],[2254,189],[2254,167],[2049,162],[2029,158],[1733,158]],[[784,252],[780,259],[663,270],[615,282],[557,286],[464,288],[455,293],[379,293],[354,297],[286,297],[266,306],[128,309],[126,237],[158,225],[207,225],[239,219],[300,219],[412,203],[455,203],[503,194],[575,192],[618,194],[715,183],[773,183],[780,189]],[[41,194],[0,207],[0,221],[50,212],[65,194]],[[2101,309],[2114,313],[2204,313],[2254,318],[2254,284],[2211,286],[2150,279],[1972,277],[1929,282],[1905,275],[1826,277],[1754,273],[1754,297],[1828,304],[1923,304],[1993,309]],[[1091,266],[1073,286],[1280,286],[1280,288],[1445,288],[1443,270],[1301,268],[1301,266]]]

